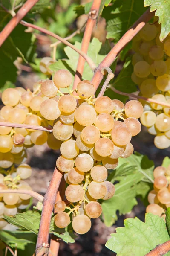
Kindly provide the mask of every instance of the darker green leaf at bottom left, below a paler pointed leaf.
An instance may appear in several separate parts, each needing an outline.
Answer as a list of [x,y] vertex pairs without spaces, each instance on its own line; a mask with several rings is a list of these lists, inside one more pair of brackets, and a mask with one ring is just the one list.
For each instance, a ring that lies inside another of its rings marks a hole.
[[[35,244],[37,236],[29,231],[7,231],[0,230],[0,240],[8,244],[10,247],[25,250],[27,244]],[[31,254],[30,254],[31,255]]]

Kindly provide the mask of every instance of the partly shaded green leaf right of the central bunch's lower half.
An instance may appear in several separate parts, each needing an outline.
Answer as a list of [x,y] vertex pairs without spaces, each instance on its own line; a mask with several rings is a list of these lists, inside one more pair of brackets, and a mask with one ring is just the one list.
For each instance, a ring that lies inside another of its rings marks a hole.
[[[115,184],[115,195],[106,201],[102,201],[103,219],[106,226],[110,227],[118,219],[119,215],[130,212],[138,204],[135,199],[137,195],[143,195],[142,186],[137,186],[140,182],[153,182],[154,163],[146,156],[135,153],[128,158],[119,158],[117,169],[113,170],[108,180]],[[149,191],[148,186],[146,193]],[[146,196],[146,195],[145,195]]]

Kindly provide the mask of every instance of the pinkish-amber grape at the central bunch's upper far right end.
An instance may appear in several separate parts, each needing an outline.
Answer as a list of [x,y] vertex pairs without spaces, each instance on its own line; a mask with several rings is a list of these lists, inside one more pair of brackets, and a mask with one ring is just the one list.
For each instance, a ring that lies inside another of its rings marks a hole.
[[125,105],[125,115],[127,117],[139,118],[144,112],[144,108],[141,105],[141,102],[137,100],[130,100]]

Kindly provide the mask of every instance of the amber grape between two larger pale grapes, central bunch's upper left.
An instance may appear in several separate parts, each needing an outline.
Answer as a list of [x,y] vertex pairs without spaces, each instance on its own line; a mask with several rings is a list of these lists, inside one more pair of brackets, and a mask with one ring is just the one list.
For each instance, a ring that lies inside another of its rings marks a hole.
[[75,111],[76,106],[76,99],[69,94],[61,96],[58,102],[58,108],[64,113],[71,113],[72,111]]

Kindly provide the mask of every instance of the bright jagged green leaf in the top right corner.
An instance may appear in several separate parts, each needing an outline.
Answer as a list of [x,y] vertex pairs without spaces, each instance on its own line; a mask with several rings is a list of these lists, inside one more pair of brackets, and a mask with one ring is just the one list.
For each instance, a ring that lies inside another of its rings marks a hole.
[[150,6],[150,12],[156,10],[155,16],[159,17],[161,24],[160,41],[163,41],[170,32],[170,1],[144,0],[144,6]]

